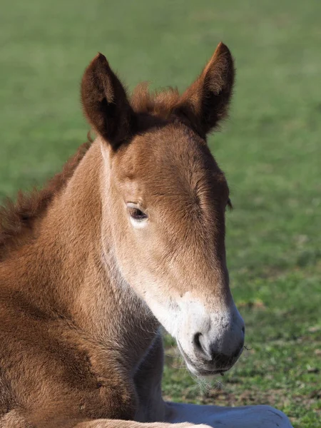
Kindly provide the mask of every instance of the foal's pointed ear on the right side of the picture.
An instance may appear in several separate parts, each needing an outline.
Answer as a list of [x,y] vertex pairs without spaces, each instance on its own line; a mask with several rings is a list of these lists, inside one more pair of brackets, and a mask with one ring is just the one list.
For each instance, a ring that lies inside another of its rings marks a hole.
[[183,93],[178,114],[183,113],[201,136],[210,132],[228,115],[235,68],[228,46],[215,49],[203,72]]

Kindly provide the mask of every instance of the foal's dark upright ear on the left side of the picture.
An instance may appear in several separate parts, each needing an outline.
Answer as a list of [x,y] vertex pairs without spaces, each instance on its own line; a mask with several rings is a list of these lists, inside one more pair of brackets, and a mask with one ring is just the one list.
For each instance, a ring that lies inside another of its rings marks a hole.
[[81,102],[88,122],[114,148],[131,135],[133,111],[103,54],[93,58],[83,74]]

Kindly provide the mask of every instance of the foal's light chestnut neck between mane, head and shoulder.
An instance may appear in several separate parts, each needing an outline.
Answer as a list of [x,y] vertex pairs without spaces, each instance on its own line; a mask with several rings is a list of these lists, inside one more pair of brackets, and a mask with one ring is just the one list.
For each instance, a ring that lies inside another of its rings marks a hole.
[[42,310],[62,313],[93,340],[119,350],[126,367],[135,370],[158,323],[122,280],[112,241],[102,243],[102,176],[103,158],[95,141],[49,207],[29,251],[38,267],[29,272],[29,297]]

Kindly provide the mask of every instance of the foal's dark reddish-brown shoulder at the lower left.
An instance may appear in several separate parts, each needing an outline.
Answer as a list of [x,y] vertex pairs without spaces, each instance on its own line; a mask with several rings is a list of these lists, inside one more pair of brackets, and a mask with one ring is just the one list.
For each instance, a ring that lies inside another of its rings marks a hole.
[[[36,426],[57,418],[133,419],[136,394],[116,355],[65,320],[9,307],[0,316],[0,418],[23,408]],[[2,404],[2,405],[1,405]],[[63,420],[63,419],[62,419]]]

